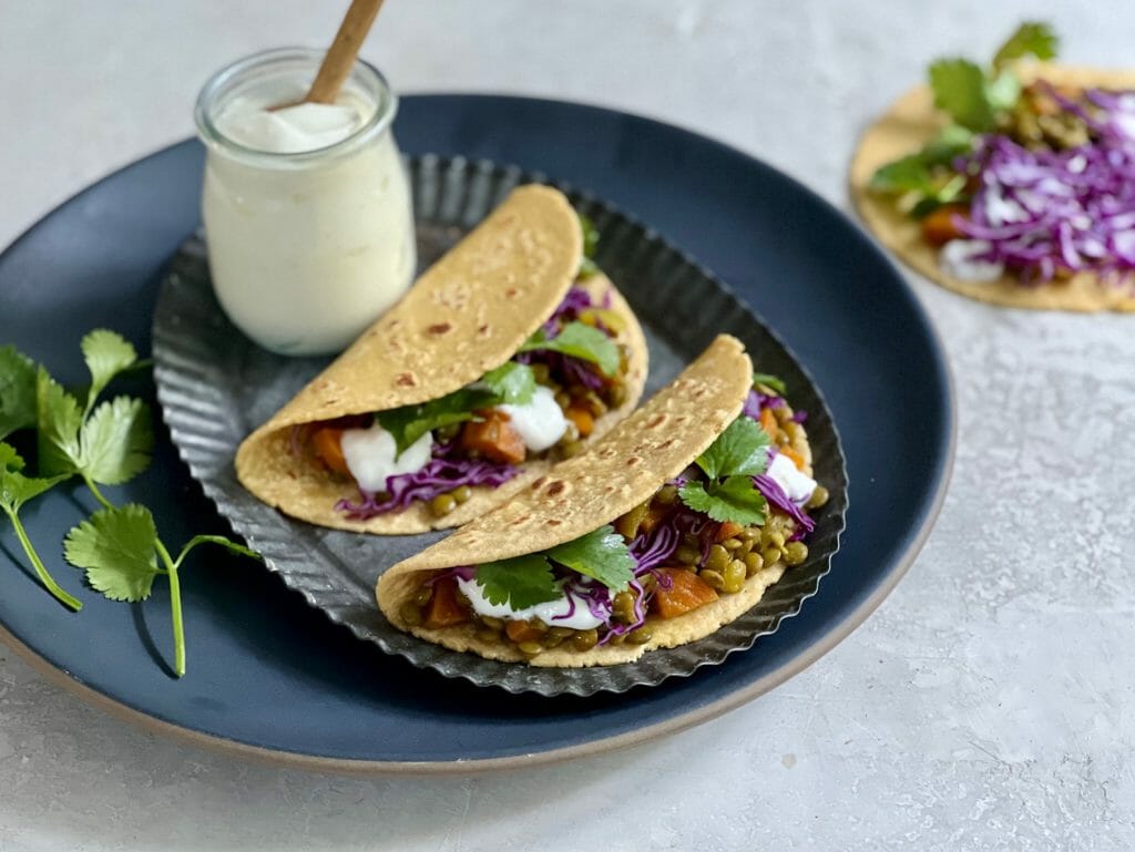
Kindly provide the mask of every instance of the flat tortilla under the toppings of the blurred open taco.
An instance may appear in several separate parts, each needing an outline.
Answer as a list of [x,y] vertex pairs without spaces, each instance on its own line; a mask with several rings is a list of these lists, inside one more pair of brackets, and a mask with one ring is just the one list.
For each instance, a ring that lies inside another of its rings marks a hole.
[[[1135,88],[1135,71],[1056,65],[1027,65],[1019,70],[1026,82],[1040,77],[1054,85]],[[1091,272],[1035,286],[1020,284],[1015,275],[989,282],[966,281],[947,275],[938,262],[939,250],[923,239],[919,222],[900,211],[892,196],[867,189],[872,175],[881,166],[918,151],[944,125],[945,119],[935,110],[930,88],[918,86],[896,101],[860,137],[851,160],[851,199],[864,222],[883,245],[926,278],[981,302],[1083,313],[1135,311],[1135,296],[1129,290],[1101,281]]]

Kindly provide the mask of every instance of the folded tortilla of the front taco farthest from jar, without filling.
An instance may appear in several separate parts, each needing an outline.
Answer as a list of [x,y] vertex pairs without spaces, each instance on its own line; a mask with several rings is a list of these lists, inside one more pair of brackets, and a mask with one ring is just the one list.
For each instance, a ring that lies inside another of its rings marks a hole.
[[[402,606],[413,600],[434,572],[461,565],[546,550],[585,535],[651,497],[688,467],[740,414],[751,386],[753,364],[740,341],[718,337],[671,385],[616,425],[606,438],[561,463],[546,476],[443,541],[390,567],[376,589],[379,608],[400,630],[455,651],[488,659],[526,661],[513,646],[486,642],[473,624],[428,629],[407,623]],[[812,450],[801,428],[796,449]],[[631,663],[646,651],[673,648],[709,635],[750,609],[780,580],[782,562],[749,577],[740,592],[675,618],[648,622],[644,644],[596,647],[589,651],[556,648],[530,661],[533,666],[578,668]]]

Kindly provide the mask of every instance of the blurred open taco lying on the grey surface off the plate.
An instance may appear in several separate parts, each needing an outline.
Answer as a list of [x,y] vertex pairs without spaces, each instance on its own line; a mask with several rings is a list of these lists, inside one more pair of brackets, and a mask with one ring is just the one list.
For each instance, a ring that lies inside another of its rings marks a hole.
[[1014,307],[1135,310],[1135,73],[1051,62],[1026,24],[981,68],[931,66],[860,138],[872,233],[942,286]]

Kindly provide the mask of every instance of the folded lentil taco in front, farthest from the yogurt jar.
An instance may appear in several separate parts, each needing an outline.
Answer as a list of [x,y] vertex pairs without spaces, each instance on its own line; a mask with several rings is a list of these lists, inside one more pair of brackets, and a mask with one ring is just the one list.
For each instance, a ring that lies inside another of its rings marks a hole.
[[628,663],[706,636],[807,559],[804,416],[718,337],[671,385],[506,505],[390,567],[379,608],[456,651]]

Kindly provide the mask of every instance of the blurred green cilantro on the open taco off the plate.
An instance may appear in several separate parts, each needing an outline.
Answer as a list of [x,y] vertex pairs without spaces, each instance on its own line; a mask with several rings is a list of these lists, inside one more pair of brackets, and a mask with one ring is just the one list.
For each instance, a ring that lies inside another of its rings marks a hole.
[[934,106],[950,119],[920,151],[881,167],[869,188],[877,193],[914,196],[913,214],[966,200],[966,175],[952,162],[973,151],[980,134],[997,130],[1017,106],[1020,77],[1012,68],[1018,59],[1052,59],[1058,39],[1048,24],[1025,23],[1000,47],[992,61],[982,67],[961,58],[938,59],[927,75]]

